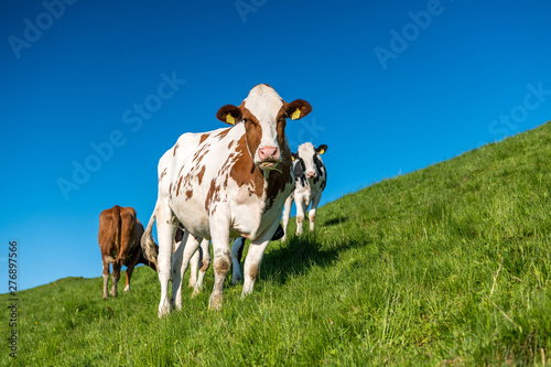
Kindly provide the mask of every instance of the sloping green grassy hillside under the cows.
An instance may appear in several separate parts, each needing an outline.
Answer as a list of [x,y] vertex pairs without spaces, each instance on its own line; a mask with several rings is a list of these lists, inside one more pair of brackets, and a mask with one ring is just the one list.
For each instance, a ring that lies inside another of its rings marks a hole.
[[227,278],[220,312],[212,270],[163,320],[147,268],[108,301],[99,278],[20,292],[0,365],[551,363],[550,192],[547,123],[325,205],[315,235],[269,246],[251,296]]

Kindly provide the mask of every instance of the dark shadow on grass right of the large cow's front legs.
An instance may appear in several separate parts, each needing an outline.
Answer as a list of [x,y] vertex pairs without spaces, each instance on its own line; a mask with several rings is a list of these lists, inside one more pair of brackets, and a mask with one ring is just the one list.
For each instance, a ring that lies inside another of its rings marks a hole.
[[284,284],[289,278],[306,274],[313,267],[333,266],[342,251],[366,245],[366,241],[347,240],[328,246],[323,245],[313,234],[292,236],[264,255],[260,279],[271,279]]

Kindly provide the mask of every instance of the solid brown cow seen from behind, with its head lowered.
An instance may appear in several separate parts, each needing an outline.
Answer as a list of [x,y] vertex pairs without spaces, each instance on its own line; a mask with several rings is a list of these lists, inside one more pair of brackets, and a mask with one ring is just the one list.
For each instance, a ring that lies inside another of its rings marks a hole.
[[[120,269],[127,267],[127,284],[125,292],[130,290],[130,278],[138,263],[144,263],[156,271],[153,262],[145,259],[141,248],[141,236],[143,226],[136,216],[132,207],[120,207],[115,205],[99,214],[98,244],[104,263],[104,300],[107,300],[109,282],[109,265],[112,263],[112,288],[111,296],[117,296],[117,283],[120,279]],[[153,253],[159,251],[154,245]]]

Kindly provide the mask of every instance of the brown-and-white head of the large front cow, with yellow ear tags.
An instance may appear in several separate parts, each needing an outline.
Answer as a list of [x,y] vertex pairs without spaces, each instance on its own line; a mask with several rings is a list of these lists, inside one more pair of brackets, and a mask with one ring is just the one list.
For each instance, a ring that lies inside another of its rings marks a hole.
[[247,148],[255,162],[262,170],[277,169],[282,160],[282,149],[287,147],[287,119],[303,118],[312,111],[310,104],[302,99],[285,102],[267,84],[255,86],[239,107],[226,105],[216,117],[226,123],[245,125]]

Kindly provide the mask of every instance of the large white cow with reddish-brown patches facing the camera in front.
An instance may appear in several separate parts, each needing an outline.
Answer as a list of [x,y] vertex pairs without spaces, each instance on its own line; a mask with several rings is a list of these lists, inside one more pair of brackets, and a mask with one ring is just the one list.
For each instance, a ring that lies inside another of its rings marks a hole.
[[[151,230],[156,219],[159,317],[171,311],[171,244],[179,223],[193,236],[213,241],[215,283],[209,309],[222,307],[224,279],[231,265],[230,238],[251,240],[241,296],[252,292],[263,252],[293,190],[287,119],[300,119],[311,111],[307,101],[296,99],[288,104],[272,87],[260,84],[239,107],[226,105],[216,114],[233,127],[184,133],[161,158],[158,199],[142,238],[145,255],[152,259]],[[186,244],[183,249],[184,267],[197,246],[190,245],[193,246]],[[179,288],[176,283],[173,280],[173,294]],[[177,299],[175,307],[182,307]]]

